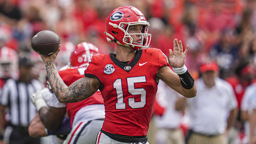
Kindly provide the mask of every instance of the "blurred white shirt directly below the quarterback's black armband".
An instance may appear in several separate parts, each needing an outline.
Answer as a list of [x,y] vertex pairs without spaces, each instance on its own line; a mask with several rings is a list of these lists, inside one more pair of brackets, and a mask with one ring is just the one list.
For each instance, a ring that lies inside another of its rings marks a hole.
[[161,107],[165,108],[163,115],[154,116],[154,123],[158,128],[178,128],[182,114],[175,110],[175,102],[182,97],[178,92],[167,86],[164,81],[160,80],[158,91],[156,92],[156,101]]

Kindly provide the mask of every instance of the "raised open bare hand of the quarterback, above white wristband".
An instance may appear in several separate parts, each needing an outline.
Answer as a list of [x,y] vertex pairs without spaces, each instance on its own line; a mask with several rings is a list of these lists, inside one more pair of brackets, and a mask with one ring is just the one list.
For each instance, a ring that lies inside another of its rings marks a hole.
[[181,41],[177,38],[174,39],[174,50],[169,49],[169,62],[173,68],[181,68],[185,64],[186,55],[188,52],[188,45],[186,46],[185,51],[183,52],[183,47]]

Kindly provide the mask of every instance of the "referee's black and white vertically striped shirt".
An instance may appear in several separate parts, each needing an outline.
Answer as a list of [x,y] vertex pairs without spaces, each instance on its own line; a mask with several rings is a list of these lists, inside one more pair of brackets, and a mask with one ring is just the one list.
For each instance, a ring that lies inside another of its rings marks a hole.
[[35,79],[32,79],[30,84],[14,79],[6,81],[0,92],[0,104],[9,107],[9,122],[12,125],[28,127],[37,113],[30,96],[42,88],[43,84]]

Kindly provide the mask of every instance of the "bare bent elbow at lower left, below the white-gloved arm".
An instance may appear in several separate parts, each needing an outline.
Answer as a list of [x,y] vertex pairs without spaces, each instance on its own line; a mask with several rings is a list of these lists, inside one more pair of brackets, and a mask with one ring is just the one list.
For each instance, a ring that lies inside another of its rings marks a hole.
[[34,137],[34,138],[40,138],[40,137],[47,136],[47,134],[44,130],[43,123],[42,123],[38,113],[36,114],[36,116],[34,116],[32,121],[30,122],[30,125],[28,127],[28,133],[29,133],[30,137]]

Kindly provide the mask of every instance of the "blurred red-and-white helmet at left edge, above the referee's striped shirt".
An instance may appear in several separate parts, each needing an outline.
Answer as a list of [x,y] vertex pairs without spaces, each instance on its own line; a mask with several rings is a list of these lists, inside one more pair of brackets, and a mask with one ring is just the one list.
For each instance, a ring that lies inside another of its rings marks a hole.
[[0,48],[0,78],[17,78],[18,56],[15,50]]

